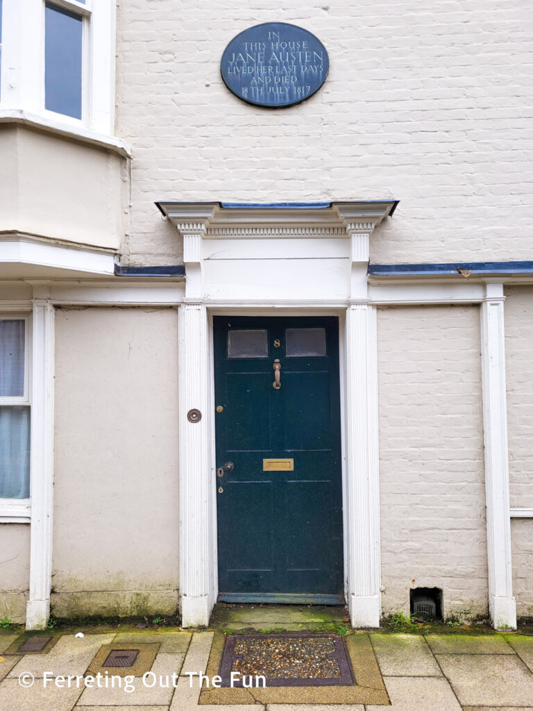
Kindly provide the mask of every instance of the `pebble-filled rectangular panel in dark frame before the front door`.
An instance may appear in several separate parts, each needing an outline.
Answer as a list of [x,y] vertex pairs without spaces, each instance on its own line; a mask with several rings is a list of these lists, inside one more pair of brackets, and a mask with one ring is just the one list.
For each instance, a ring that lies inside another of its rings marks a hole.
[[[239,678],[231,682],[232,672]],[[222,686],[241,688],[242,677],[262,675],[269,686],[355,685],[342,637],[335,634],[235,634],[220,661]],[[249,683],[249,680],[248,680]]]

